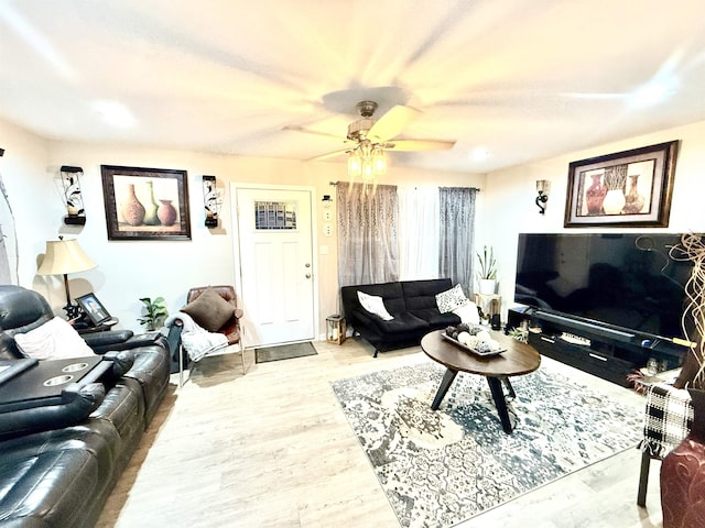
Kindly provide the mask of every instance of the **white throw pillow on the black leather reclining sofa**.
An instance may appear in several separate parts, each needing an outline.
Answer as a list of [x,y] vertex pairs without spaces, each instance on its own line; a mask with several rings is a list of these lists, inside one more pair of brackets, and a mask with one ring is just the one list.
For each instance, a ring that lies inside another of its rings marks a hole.
[[63,360],[94,354],[76,329],[59,317],[26,333],[15,333],[14,341],[22,352],[35,360]]

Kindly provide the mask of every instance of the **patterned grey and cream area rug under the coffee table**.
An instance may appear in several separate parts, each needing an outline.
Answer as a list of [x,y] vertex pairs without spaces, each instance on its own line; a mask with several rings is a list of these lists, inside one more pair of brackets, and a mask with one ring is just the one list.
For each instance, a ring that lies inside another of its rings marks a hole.
[[542,366],[511,378],[506,435],[484,377],[459,373],[441,408],[436,363],[338,380],[333,389],[403,527],[447,527],[634,448],[641,411]]

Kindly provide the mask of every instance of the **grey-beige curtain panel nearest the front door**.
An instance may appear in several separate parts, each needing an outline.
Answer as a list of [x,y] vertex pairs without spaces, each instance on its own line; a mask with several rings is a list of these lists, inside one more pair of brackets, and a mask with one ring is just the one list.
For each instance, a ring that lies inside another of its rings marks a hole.
[[337,185],[338,285],[399,280],[397,186]]

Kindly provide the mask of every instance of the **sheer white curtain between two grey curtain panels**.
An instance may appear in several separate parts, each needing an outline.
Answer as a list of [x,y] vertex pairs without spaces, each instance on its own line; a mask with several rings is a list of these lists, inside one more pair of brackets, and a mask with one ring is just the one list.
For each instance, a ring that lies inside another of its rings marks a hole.
[[438,277],[438,187],[399,187],[399,278]]

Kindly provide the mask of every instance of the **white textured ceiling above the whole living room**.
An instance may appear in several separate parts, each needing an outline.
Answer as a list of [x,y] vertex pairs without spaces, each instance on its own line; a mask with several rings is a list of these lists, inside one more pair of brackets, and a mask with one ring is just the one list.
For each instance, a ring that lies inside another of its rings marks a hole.
[[392,165],[482,173],[705,120],[704,94],[703,0],[0,0],[0,118],[52,139],[307,160],[373,99],[457,140]]

